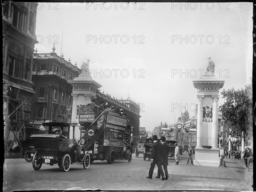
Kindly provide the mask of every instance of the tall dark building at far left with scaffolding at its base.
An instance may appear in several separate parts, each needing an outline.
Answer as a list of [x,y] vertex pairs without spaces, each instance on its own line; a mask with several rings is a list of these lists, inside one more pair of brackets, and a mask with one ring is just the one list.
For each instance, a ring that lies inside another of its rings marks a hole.
[[[38,3],[4,1],[3,6],[3,112],[6,152],[16,152],[31,118],[32,59],[36,40]],[[15,146],[15,147],[13,147]]]

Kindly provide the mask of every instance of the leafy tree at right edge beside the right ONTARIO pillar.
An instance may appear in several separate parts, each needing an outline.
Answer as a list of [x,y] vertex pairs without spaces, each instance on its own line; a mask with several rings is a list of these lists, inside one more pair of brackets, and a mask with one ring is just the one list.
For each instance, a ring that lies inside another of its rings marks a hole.
[[234,88],[223,90],[222,98],[225,98],[221,106],[222,118],[233,123],[233,136],[251,139],[253,132],[253,92],[252,84],[248,84],[241,90]]

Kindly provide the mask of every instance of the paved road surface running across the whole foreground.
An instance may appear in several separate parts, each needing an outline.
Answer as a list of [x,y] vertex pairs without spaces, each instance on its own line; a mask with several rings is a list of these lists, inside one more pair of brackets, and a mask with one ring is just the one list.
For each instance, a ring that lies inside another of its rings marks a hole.
[[186,165],[188,154],[183,153],[179,165],[169,158],[169,179],[161,181],[157,166],[153,179],[147,179],[150,161],[140,155],[127,160],[108,164],[94,161],[89,169],[82,164],[71,165],[69,172],[58,166],[42,165],[39,171],[24,159],[6,159],[4,164],[4,191],[13,190],[241,190],[253,191],[252,169],[247,172],[239,160],[227,159],[227,168]]

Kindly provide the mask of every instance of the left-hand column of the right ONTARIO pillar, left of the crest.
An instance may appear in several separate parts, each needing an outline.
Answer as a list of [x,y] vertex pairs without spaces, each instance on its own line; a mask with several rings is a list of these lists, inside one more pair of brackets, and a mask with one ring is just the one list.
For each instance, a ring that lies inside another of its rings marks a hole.
[[196,139],[196,148],[203,148],[202,147],[202,109],[203,109],[203,97],[204,95],[197,95],[198,98],[198,116],[197,116],[197,131],[196,131],[196,135],[197,135],[197,139]]

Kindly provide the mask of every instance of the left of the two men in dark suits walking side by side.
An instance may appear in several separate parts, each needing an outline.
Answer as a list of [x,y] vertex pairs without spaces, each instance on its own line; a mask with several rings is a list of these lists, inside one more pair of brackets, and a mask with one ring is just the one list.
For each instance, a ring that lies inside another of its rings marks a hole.
[[160,172],[160,175],[162,175],[162,180],[164,180],[164,173],[161,165],[161,162],[163,161],[162,144],[157,142],[157,135],[153,135],[152,138],[154,139],[154,143],[151,148],[151,164],[150,164],[148,177],[146,178],[152,179],[154,166],[157,164],[158,171]]

